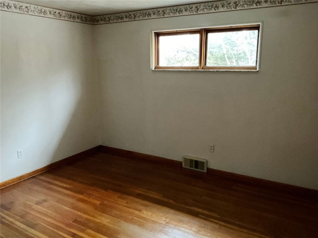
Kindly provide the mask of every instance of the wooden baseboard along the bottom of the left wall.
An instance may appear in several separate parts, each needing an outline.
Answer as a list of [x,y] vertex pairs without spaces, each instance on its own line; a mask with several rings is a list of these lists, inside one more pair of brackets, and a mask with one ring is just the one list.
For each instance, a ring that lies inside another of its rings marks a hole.
[[92,153],[95,153],[95,152],[98,152],[98,151],[100,151],[100,145],[96,146],[96,147],[93,147],[91,149],[85,150],[83,152],[80,152],[80,153],[78,153],[76,155],[72,155],[72,156],[67,157],[65,159],[59,160],[57,162],[54,162],[54,163],[49,164],[47,166],[44,166],[44,167],[42,167],[40,169],[37,169],[37,170],[34,170],[32,172],[26,173],[24,175],[21,175],[21,176],[15,177],[13,179],[8,179],[6,181],[0,182],[0,189],[2,189],[4,187],[7,187],[7,186],[10,186],[12,184],[15,184],[17,182],[23,181],[25,179],[29,179],[29,178],[31,178],[33,176],[36,176],[36,175],[39,175],[39,174],[41,174],[41,173],[43,173],[45,171],[51,170],[51,169],[53,169],[55,167],[64,165],[64,164],[66,164],[66,163],[68,163],[70,161],[79,159],[79,158],[84,157],[84,156],[88,156],[88,155],[90,155]]

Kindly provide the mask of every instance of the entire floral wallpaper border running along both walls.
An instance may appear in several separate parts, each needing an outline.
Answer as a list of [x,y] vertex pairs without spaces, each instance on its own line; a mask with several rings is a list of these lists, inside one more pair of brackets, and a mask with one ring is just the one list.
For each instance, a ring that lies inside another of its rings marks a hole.
[[98,25],[313,2],[318,2],[318,0],[217,0],[101,16],[88,16],[11,0],[0,0],[0,10]]

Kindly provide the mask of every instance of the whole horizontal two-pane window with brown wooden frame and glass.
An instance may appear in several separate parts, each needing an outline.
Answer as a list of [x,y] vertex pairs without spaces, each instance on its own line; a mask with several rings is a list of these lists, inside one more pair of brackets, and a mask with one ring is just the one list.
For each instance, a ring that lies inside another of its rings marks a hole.
[[258,70],[260,24],[154,32],[153,69]]

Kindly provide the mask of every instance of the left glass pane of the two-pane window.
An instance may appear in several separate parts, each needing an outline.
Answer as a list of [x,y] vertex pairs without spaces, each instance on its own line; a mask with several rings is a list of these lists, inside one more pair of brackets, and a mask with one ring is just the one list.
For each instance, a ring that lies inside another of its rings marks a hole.
[[199,66],[200,34],[159,36],[159,66]]

